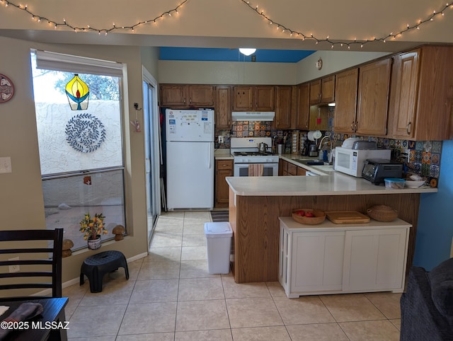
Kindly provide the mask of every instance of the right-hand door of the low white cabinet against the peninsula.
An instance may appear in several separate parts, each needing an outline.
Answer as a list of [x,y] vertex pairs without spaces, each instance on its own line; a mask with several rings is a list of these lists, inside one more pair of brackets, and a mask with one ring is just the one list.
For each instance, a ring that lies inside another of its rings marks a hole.
[[343,291],[403,289],[408,229],[346,231]]

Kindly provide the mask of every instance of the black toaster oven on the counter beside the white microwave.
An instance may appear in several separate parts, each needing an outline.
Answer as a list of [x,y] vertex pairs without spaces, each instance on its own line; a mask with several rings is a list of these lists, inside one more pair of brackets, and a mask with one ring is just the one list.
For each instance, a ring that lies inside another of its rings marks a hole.
[[386,178],[402,178],[403,163],[385,160],[384,158],[367,158],[363,166],[362,178],[379,185]]

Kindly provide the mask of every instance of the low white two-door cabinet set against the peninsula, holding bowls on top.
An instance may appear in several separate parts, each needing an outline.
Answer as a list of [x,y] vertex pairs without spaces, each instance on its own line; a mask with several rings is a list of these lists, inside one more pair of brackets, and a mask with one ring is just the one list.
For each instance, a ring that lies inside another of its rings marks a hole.
[[280,217],[278,279],[291,299],[302,295],[403,292],[411,224],[304,225]]

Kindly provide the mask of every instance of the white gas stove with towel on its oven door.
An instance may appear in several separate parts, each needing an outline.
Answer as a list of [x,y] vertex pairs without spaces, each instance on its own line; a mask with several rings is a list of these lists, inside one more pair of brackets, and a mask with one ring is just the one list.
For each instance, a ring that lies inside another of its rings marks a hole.
[[[260,144],[267,144],[260,152]],[[278,155],[272,153],[270,137],[231,137],[231,154],[234,156],[234,176],[248,176],[248,166],[262,163],[264,176],[278,175]]]

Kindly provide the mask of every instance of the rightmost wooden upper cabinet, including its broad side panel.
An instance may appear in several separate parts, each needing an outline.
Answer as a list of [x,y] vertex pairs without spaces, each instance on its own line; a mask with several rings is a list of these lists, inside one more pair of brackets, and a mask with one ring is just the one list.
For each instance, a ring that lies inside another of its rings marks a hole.
[[424,46],[394,57],[390,117],[395,139],[451,139],[453,47]]

